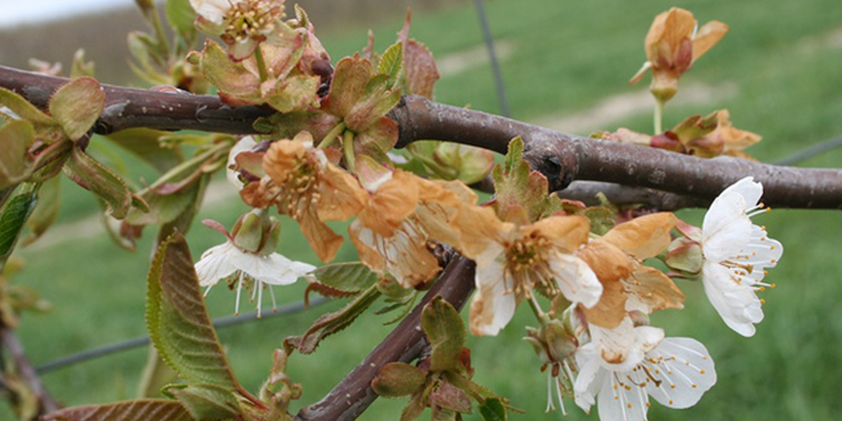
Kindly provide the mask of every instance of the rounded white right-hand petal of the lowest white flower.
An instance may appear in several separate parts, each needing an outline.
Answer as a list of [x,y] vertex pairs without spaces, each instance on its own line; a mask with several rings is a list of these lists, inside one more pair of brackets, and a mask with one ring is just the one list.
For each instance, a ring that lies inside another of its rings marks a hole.
[[705,345],[692,338],[665,338],[647,355],[648,370],[661,382],[647,383],[650,396],[669,408],[690,408],[717,383],[717,371]]

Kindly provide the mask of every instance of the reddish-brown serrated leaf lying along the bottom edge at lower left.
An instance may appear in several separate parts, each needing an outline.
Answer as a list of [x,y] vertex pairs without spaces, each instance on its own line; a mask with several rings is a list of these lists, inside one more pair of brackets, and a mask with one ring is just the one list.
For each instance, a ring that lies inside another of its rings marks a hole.
[[45,421],[193,421],[181,403],[165,399],[138,399],[106,405],[65,408],[44,416]]

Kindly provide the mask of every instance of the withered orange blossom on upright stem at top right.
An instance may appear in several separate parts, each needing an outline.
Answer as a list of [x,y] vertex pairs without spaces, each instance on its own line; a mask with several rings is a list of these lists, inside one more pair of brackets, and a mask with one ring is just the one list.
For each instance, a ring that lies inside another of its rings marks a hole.
[[673,98],[678,92],[681,74],[690,70],[693,62],[728,31],[727,24],[717,20],[697,27],[693,13],[683,8],[671,8],[658,14],[644,42],[648,61],[630,83],[637,83],[651,67],[653,79],[649,89],[659,101]]

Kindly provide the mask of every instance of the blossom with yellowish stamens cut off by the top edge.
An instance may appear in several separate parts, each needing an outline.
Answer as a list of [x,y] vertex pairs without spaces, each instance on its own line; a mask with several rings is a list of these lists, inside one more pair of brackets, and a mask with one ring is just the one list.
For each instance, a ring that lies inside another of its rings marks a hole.
[[257,45],[274,40],[284,25],[284,0],[190,0],[199,19],[196,24],[217,35],[235,60],[251,56]]

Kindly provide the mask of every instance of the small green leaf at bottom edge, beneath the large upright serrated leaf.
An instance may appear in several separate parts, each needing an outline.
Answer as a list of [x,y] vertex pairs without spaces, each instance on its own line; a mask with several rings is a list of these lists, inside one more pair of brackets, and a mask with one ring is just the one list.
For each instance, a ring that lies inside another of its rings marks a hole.
[[195,419],[216,421],[234,418],[240,413],[231,391],[214,385],[190,385],[167,390],[181,402]]

